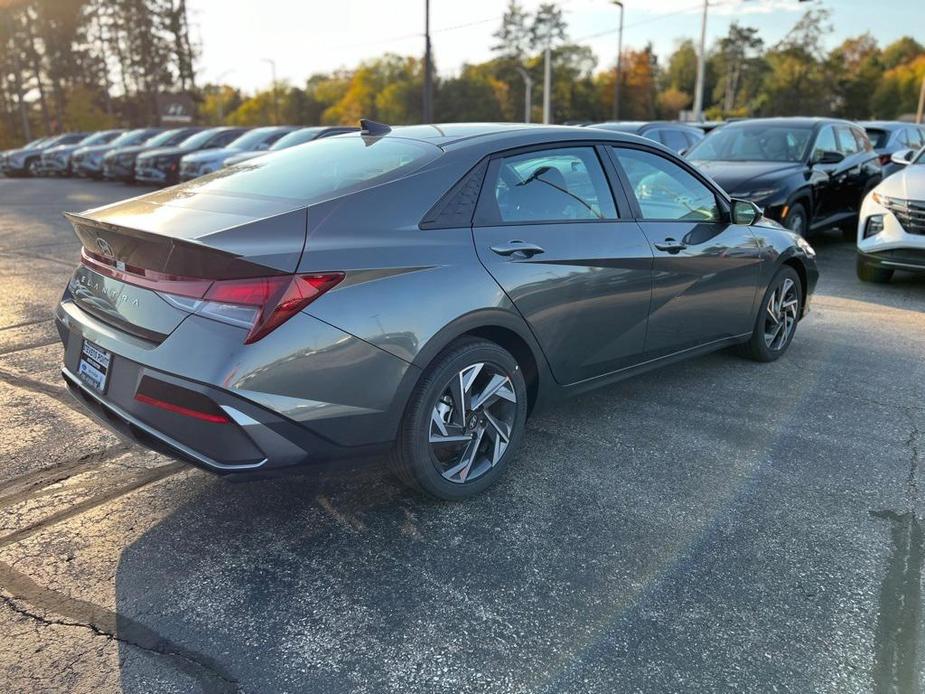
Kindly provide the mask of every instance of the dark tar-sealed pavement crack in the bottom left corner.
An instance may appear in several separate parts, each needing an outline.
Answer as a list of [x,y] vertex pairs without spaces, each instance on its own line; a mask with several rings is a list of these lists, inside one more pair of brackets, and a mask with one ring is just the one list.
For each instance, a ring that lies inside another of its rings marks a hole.
[[[206,692],[241,691],[238,680],[210,656],[174,643],[134,619],[40,586],[26,574],[3,563],[0,563],[0,590],[6,593],[0,595],[4,604],[38,624],[89,629],[97,636],[167,657],[179,670],[195,678]],[[49,618],[37,610],[62,618]]]

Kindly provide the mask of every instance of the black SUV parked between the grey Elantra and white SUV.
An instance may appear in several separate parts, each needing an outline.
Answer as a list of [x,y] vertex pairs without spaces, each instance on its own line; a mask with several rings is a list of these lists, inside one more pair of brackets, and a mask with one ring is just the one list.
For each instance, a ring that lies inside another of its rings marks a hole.
[[756,118],[717,128],[687,153],[727,193],[803,236],[854,238],[861,201],[883,171],[864,129],[835,118]]

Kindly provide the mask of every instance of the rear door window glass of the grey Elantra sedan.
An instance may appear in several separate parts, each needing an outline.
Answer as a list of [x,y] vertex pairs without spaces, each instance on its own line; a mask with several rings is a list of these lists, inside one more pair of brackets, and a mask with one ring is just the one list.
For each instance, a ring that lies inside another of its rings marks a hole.
[[491,185],[502,224],[617,217],[607,178],[590,147],[505,157]]

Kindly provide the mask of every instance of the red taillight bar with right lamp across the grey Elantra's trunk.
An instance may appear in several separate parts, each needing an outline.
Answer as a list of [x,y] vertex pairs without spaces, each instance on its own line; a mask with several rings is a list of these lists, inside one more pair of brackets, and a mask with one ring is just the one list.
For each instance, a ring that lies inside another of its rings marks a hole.
[[185,311],[247,328],[244,344],[266,336],[344,279],[343,272],[209,280],[126,265],[83,249],[95,272],[156,291]]

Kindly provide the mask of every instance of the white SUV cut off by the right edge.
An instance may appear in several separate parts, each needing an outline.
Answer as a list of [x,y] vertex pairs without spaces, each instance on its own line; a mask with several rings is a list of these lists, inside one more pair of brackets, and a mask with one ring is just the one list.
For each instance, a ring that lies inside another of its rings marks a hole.
[[884,179],[861,205],[858,277],[889,282],[894,270],[925,272],[925,147],[901,150],[901,171]]

